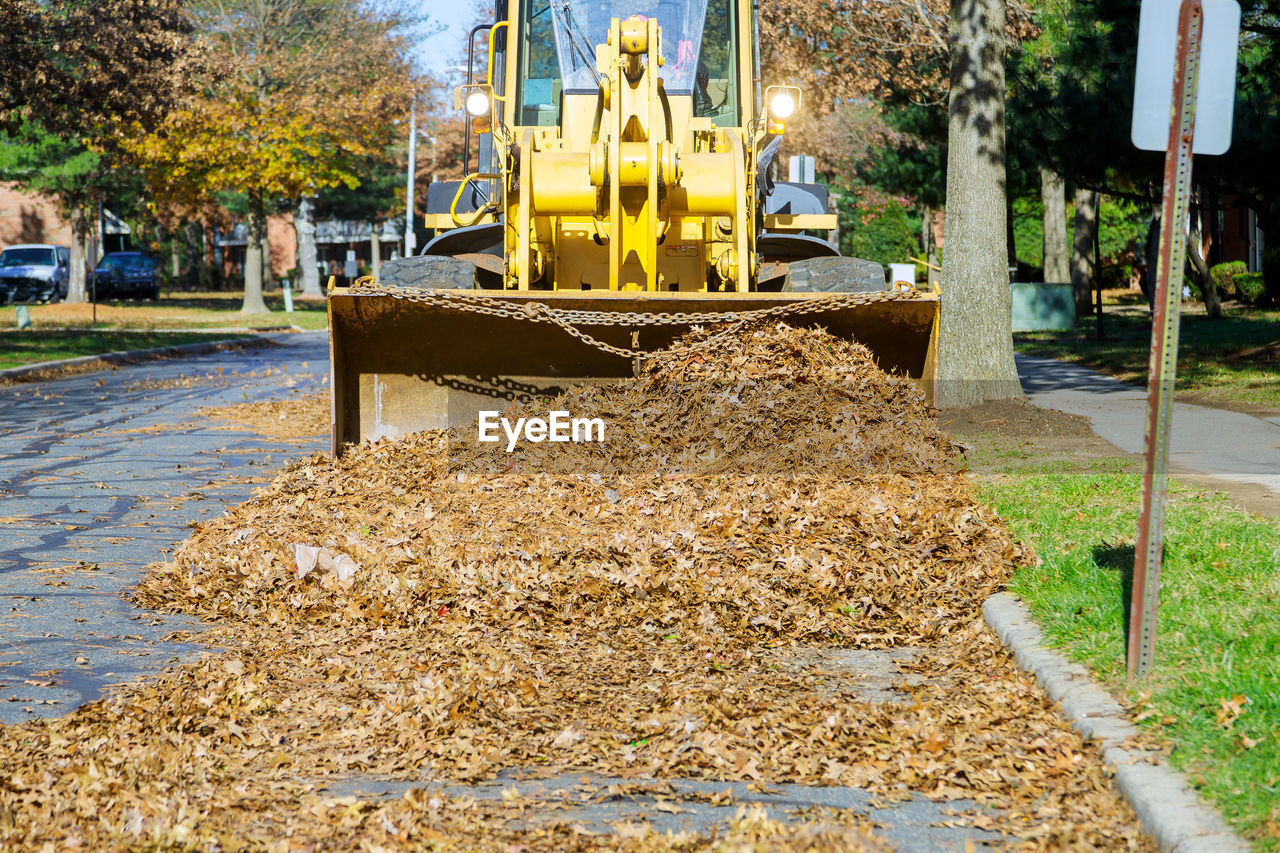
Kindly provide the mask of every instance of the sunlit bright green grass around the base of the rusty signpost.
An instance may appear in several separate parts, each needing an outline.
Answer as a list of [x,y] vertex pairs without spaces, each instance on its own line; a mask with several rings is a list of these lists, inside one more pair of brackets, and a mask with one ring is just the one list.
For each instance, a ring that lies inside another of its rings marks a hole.
[[[1220,497],[1171,489],[1156,662],[1125,685],[1128,587],[1140,498],[1126,462],[1046,465],[979,485],[1042,565],[1010,588],[1050,642],[1135,704],[1228,821],[1280,850],[1280,524]],[[1220,719],[1224,702],[1243,713]]]

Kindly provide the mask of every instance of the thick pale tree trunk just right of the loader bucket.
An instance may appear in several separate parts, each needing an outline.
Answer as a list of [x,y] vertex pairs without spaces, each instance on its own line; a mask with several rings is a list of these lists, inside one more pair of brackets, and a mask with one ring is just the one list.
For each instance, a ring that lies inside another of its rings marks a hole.
[[1005,206],[1005,0],[951,0],[940,407],[1021,397]]

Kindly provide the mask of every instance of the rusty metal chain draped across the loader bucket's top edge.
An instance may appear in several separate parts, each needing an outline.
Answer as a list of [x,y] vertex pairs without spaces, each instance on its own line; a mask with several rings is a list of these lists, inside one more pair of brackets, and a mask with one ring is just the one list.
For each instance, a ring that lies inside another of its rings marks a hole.
[[[512,320],[527,320],[530,323],[549,323],[557,325],[579,341],[604,352],[621,356],[623,359],[644,359],[652,352],[631,350],[614,346],[580,329],[580,325],[604,327],[662,327],[662,325],[721,325],[726,328],[700,342],[699,347],[721,338],[736,334],[742,327],[763,320],[781,320],[796,314],[827,314],[856,305],[872,302],[910,301],[919,298],[914,291],[874,291],[870,293],[831,293],[814,300],[799,300],[774,305],[767,309],[753,309],[750,311],[603,311],[582,309],[557,309],[545,302],[512,302],[500,296],[485,293],[467,293],[466,291],[435,291],[416,287],[383,287],[372,277],[358,279],[351,288],[360,296],[389,296],[407,302],[421,302],[434,305],[445,310],[465,311],[468,314],[484,314]],[[667,352],[684,352],[695,347],[681,350],[668,350]]]

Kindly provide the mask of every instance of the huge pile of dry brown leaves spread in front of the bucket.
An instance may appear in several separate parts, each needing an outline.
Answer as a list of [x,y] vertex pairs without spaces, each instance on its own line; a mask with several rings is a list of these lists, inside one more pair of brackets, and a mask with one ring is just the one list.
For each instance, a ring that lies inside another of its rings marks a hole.
[[[301,460],[197,526],[134,598],[215,624],[223,651],[12,727],[0,841],[887,849],[851,813],[600,836],[545,803],[324,793],[516,770],[969,799],[1019,845],[1146,849],[1096,749],[980,625],[1029,555],[919,391],[819,330],[684,343],[507,412],[602,418],[603,443],[419,433]],[[900,702],[776,654],[901,648]]]

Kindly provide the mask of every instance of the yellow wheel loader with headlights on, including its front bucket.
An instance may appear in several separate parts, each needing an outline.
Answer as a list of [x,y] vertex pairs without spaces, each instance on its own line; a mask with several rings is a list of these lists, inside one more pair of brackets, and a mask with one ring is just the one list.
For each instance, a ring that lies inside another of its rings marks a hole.
[[937,293],[840,257],[806,233],[836,228],[826,188],[774,179],[801,92],[763,86],[751,0],[498,0],[477,29],[485,81],[454,95],[477,158],[430,186],[436,236],[330,288],[334,453],[755,319],[855,338],[932,392]]

